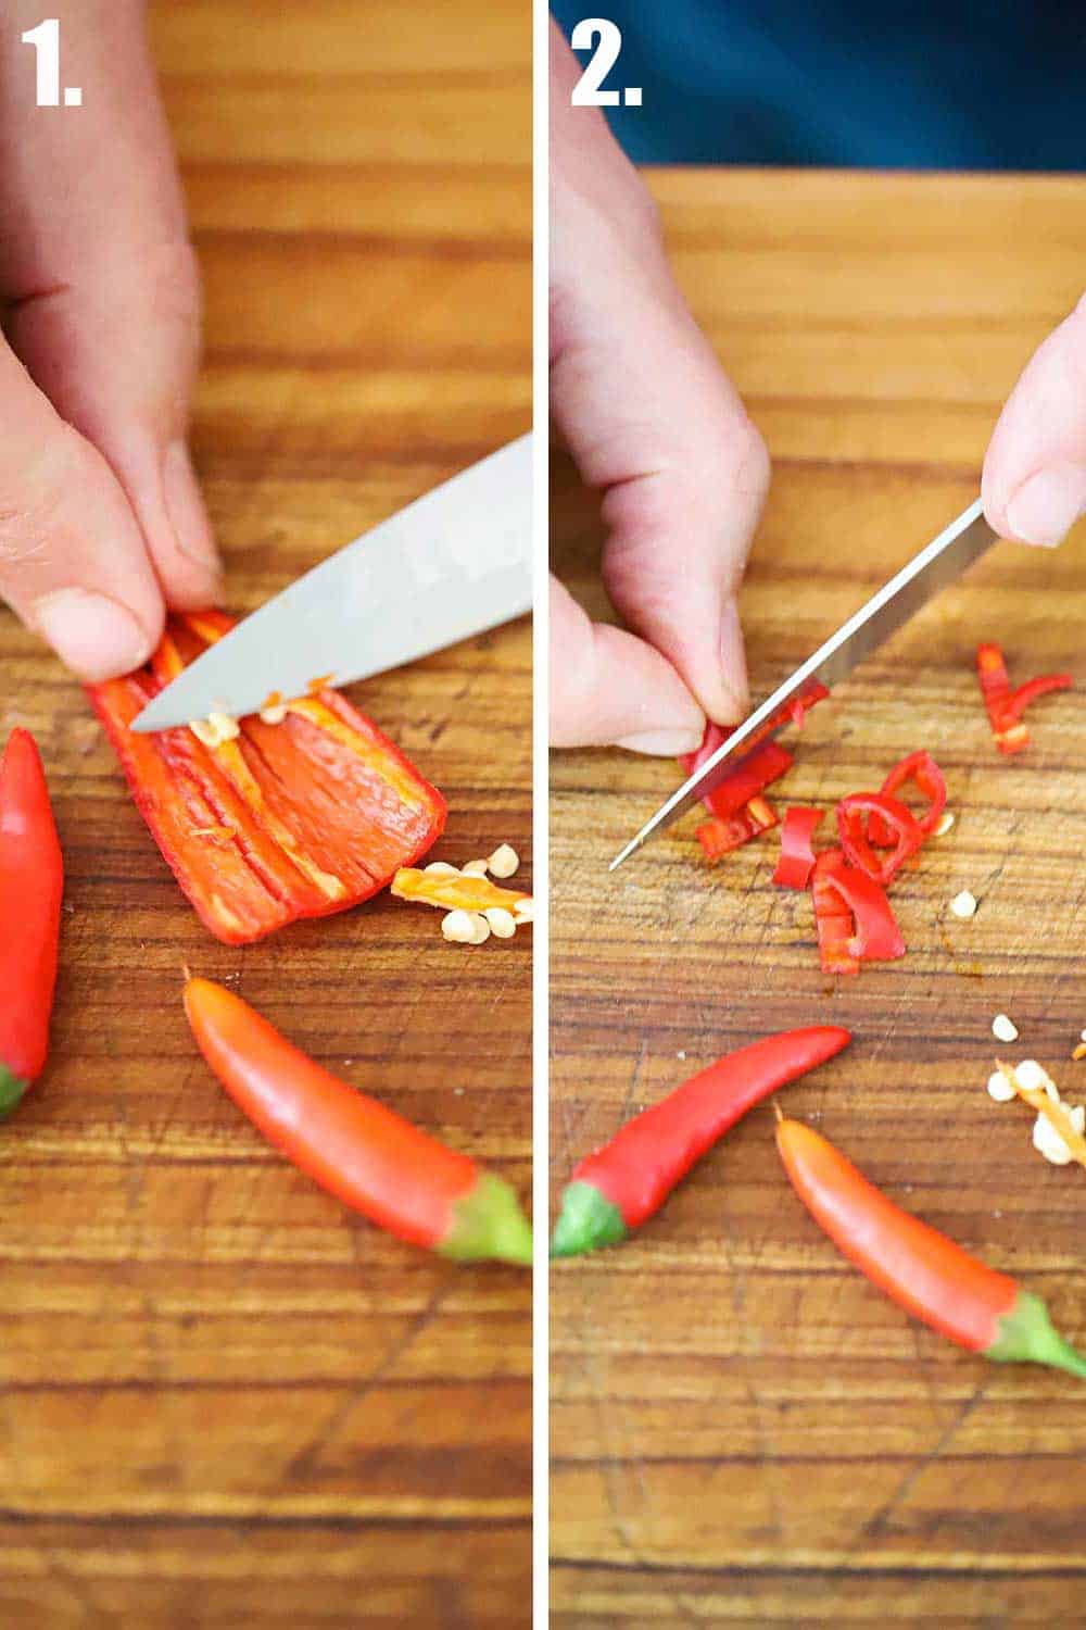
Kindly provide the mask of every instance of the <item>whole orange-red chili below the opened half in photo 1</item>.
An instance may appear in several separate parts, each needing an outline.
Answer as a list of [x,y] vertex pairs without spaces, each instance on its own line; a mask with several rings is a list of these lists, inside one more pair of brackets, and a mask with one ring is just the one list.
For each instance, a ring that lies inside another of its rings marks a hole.
[[189,980],[184,1007],[238,1108],[321,1188],[443,1257],[531,1265],[531,1227],[503,1178],[329,1074],[221,985]]

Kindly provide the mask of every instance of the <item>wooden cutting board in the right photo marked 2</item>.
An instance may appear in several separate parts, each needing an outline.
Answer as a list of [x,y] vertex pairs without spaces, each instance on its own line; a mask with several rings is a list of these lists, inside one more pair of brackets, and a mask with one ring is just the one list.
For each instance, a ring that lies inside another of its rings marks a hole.
[[[1081,293],[1086,186],[651,179],[679,279],[773,453],[742,590],[760,696],[975,494],[1018,370]],[[606,615],[596,518],[565,463],[554,536]],[[830,807],[926,747],[957,813],[894,892],[905,962],[839,989],[809,900],[770,883],[773,836],[707,870],[687,817],[607,877],[676,771],[554,755],[555,1200],[581,1154],[694,1069],[770,1030],[845,1024],[853,1046],[782,1102],[1086,1338],[1083,1172],[1044,1164],[1029,1112],[983,1090],[1005,1011],[1014,1056],[1086,1097],[1070,1061],[1084,626],[1081,535],[1058,554],[1000,544],[812,714],[778,805]],[[1076,673],[1018,760],[988,735],[980,637],[1019,678]],[[948,919],[964,887],[970,924]],[[555,1630],[1076,1622],[1081,1390],[985,1366],[874,1293],[786,1187],[769,1107],[620,1250],[557,1265],[550,1309]]]

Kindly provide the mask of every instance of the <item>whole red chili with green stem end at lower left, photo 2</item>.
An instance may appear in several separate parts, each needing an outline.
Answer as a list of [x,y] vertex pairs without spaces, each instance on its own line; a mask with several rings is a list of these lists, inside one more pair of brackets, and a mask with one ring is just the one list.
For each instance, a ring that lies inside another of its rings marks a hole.
[[749,1108],[834,1058],[850,1040],[839,1025],[765,1037],[635,1115],[575,1169],[550,1255],[576,1257],[625,1239],[659,1211],[695,1161]]

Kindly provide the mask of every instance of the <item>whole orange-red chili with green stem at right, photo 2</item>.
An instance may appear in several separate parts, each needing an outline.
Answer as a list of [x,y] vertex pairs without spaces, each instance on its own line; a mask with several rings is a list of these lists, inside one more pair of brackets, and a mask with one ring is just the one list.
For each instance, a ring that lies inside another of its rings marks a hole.
[[1086,1377],[1040,1297],[902,1211],[821,1133],[782,1120],[777,1148],[814,1221],[891,1301],[972,1353]]

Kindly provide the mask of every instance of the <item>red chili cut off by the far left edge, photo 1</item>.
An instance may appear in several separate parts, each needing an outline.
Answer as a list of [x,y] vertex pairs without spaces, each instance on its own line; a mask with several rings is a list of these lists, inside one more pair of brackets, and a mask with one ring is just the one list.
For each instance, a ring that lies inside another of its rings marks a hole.
[[0,1120],[46,1068],[62,896],[41,753],[13,730],[0,763]]

